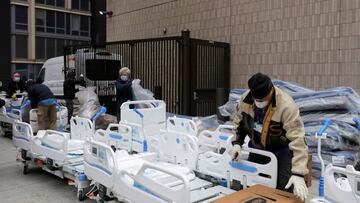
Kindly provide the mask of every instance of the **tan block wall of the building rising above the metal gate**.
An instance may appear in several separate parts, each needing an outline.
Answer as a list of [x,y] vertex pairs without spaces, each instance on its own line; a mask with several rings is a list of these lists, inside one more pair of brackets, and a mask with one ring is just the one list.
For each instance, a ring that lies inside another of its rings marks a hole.
[[231,45],[231,87],[249,76],[360,91],[359,0],[107,0],[107,41],[180,35]]

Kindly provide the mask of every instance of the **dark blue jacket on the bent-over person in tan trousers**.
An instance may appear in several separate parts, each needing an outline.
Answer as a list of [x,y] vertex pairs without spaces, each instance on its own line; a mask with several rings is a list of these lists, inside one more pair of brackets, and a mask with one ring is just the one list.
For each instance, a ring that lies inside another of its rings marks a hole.
[[27,92],[32,108],[36,108],[41,101],[48,99],[55,100],[54,94],[46,85],[43,84],[33,84],[27,89]]

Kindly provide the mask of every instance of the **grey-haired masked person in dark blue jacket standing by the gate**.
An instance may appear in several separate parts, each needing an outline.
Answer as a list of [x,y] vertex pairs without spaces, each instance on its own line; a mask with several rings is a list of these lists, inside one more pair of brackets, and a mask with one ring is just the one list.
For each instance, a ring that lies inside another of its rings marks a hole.
[[119,70],[119,78],[116,80],[116,113],[120,121],[120,107],[124,102],[133,100],[132,79],[130,69],[123,67]]

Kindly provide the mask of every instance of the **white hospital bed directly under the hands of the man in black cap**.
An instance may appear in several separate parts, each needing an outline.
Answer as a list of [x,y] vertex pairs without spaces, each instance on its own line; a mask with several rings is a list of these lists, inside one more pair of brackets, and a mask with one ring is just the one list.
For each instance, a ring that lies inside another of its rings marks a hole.
[[[214,131],[204,130],[198,133],[194,121],[170,117],[167,120],[167,129],[193,136],[199,150],[194,170],[201,177],[211,176],[220,181],[227,180],[226,184],[239,181],[244,187],[263,184],[276,188],[277,159],[273,153],[243,147],[241,158],[236,162],[231,160],[233,126],[219,125]],[[269,157],[270,161],[266,164],[247,161],[249,153]]]

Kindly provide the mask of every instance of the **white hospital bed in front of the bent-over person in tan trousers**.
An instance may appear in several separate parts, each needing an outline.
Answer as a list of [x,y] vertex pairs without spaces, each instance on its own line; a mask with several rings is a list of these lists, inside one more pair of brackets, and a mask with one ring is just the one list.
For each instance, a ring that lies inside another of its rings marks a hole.
[[[93,121],[103,112],[104,109],[100,110]],[[40,130],[37,134],[30,124],[15,122],[13,142],[21,153],[23,173],[27,174],[29,165],[34,165],[62,179],[67,178],[71,180],[69,184],[76,186],[79,200],[83,200],[84,190],[90,185],[84,174],[84,140],[94,136],[93,121],[73,117],[70,133]]]

